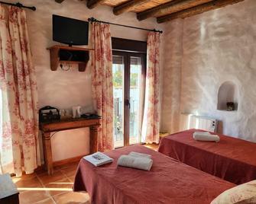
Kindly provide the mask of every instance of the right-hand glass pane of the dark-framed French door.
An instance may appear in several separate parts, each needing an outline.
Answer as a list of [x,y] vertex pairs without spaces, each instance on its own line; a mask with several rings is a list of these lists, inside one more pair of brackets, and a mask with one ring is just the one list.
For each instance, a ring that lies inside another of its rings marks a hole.
[[141,57],[130,57],[129,144],[140,141]]

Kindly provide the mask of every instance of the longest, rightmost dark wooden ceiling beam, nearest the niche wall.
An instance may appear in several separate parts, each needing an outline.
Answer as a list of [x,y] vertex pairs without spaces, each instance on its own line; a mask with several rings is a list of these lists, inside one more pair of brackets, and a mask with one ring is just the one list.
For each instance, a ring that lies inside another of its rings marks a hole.
[[232,5],[238,2],[243,2],[245,0],[214,0],[203,5],[198,5],[193,8],[187,8],[186,10],[179,11],[173,14],[168,14],[163,17],[157,18],[157,23],[164,23],[166,21],[172,21],[176,18],[187,18],[196,14],[201,14],[206,11],[210,11],[216,8],[222,8],[226,5]]

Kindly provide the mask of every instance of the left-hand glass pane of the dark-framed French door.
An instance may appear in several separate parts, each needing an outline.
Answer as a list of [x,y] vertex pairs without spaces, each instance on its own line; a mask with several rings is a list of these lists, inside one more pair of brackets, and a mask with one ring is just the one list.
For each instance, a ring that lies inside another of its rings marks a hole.
[[112,65],[114,94],[114,147],[124,146],[124,78],[123,56],[113,56]]

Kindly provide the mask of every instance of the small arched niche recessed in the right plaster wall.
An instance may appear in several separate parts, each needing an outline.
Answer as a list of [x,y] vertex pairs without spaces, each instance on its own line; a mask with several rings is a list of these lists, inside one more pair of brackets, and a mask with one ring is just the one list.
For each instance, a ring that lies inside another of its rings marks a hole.
[[230,102],[234,103],[233,110],[238,110],[237,85],[232,81],[225,81],[219,87],[217,110],[228,110],[227,103]]

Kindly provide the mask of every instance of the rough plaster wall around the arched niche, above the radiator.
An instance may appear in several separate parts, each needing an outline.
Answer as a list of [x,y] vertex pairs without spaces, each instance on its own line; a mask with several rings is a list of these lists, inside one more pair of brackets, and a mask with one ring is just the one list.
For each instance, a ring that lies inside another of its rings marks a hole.
[[[184,19],[181,92],[180,98],[173,99],[175,103],[180,101],[181,113],[214,117],[222,121],[219,132],[253,142],[256,142],[255,11],[256,1],[245,0]],[[165,53],[165,57],[170,56],[170,63],[177,62],[182,54],[170,55],[167,50]],[[180,75],[179,65],[176,67],[174,75]],[[217,110],[219,87],[225,81],[236,84],[238,111]],[[167,92],[170,94],[175,89],[171,87]],[[166,101],[165,96],[163,101]],[[163,105],[168,106],[170,113],[177,111],[171,104]],[[166,119],[162,120],[164,123]]]

